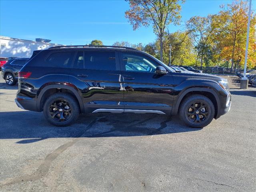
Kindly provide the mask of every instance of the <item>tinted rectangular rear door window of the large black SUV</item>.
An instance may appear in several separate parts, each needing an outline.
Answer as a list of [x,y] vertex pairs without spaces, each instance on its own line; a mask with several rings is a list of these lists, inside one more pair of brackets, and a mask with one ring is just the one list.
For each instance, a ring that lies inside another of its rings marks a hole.
[[86,69],[114,71],[116,70],[115,52],[86,51],[84,64]]

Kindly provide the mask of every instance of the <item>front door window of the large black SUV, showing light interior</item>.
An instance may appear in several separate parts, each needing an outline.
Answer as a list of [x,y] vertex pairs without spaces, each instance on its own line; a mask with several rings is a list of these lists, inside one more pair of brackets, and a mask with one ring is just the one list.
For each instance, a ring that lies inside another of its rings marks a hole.
[[126,71],[154,73],[157,65],[146,57],[136,54],[122,54],[122,60]]

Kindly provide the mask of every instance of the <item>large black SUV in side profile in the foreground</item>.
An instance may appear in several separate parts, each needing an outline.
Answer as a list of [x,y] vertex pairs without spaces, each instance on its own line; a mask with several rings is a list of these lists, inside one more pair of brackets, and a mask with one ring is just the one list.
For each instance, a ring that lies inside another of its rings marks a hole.
[[228,82],[176,72],[150,54],[116,46],[58,46],[38,52],[19,72],[16,104],[44,112],[55,126],[80,113],[175,115],[195,128],[230,109]]

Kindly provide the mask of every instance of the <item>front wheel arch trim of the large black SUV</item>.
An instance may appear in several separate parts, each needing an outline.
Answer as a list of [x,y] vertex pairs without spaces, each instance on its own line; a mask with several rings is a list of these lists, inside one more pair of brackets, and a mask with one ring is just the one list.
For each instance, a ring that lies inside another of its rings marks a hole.
[[172,111],[173,115],[178,114],[179,109],[180,109],[180,104],[182,103],[182,101],[186,97],[188,97],[192,94],[201,94],[201,95],[209,98],[212,101],[212,103],[214,104],[214,108],[215,108],[214,118],[216,118],[218,116],[218,112],[220,109],[220,100],[218,98],[217,93],[214,90],[209,89],[209,88],[188,88],[187,90],[182,92],[182,94],[178,97],[178,100],[176,102],[174,110]]

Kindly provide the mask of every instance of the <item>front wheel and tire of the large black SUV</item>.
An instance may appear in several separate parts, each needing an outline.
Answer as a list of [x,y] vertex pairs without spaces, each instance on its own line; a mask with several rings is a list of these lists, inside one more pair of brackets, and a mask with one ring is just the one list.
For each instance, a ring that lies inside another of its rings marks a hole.
[[215,108],[206,96],[194,94],[180,105],[179,116],[190,127],[203,128],[212,122]]

